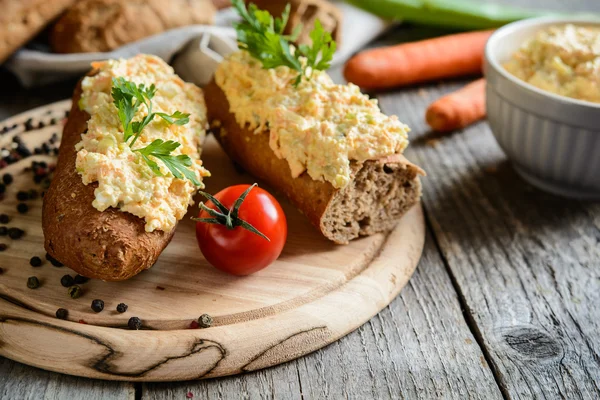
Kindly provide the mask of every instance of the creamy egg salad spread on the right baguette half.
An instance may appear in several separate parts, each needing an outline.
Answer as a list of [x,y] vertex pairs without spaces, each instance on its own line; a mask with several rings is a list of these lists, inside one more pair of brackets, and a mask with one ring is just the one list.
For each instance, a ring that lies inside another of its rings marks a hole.
[[294,87],[297,74],[286,66],[264,69],[246,51],[231,54],[215,73],[237,123],[256,134],[269,131],[271,149],[293,177],[306,171],[342,188],[351,180],[350,160],[377,159],[408,145],[409,128],[357,86],[336,85],[315,70]]

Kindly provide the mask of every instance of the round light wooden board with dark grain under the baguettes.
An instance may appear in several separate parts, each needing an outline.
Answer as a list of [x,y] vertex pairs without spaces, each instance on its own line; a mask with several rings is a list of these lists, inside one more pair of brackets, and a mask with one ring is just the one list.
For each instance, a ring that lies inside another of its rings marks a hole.
[[[0,129],[18,125],[2,134],[0,148],[10,148],[15,135],[29,148],[53,133],[60,136],[60,120],[69,106],[68,100],[51,104],[0,124]],[[29,118],[36,129],[24,132]],[[53,118],[59,121],[56,125],[50,124]],[[45,127],[38,129],[39,121]],[[0,213],[11,217],[8,227],[26,231],[20,240],[0,236],[0,243],[8,245],[0,253],[0,355],[52,371],[172,381],[289,361],[348,334],[389,304],[409,280],[423,248],[420,206],[389,234],[340,246],[320,236],[279,198],[288,218],[288,241],[279,260],[263,271],[234,277],[211,267],[196,245],[194,223],[186,217],[151,269],[125,282],[91,280],[74,300],[60,284],[73,271],[44,259],[41,199],[28,201],[30,210],[24,215],[16,211],[17,191],[36,186],[32,172],[24,171],[32,160],[54,162],[51,156],[34,155],[0,172],[15,178],[0,201]],[[203,160],[212,172],[206,180],[209,192],[253,181],[235,170],[212,137]],[[41,257],[43,265],[31,267],[32,256]],[[39,278],[39,288],[27,288],[30,276]],[[103,312],[91,310],[93,299],[104,300]],[[116,311],[121,302],[129,305],[124,314]],[[68,320],[54,316],[60,307],[69,310]],[[205,313],[213,317],[213,326],[189,329]],[[143,330],[125,329],[132,316],[143,320]]]

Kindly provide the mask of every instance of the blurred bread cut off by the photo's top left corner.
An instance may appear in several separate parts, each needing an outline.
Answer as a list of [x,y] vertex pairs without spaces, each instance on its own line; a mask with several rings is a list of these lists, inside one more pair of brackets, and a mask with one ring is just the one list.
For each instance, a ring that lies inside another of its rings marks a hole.
[[73,3],[75,0],[0,0],[0,63]]

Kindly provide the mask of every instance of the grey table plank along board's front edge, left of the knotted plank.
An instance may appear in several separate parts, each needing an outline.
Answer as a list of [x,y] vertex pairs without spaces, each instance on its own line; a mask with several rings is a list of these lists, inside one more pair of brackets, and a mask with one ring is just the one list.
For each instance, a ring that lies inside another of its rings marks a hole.
[[187,392],[215,400],[502,398],[430,236],[398,298],[352,334],[253,374],[142,390],[144,400]]

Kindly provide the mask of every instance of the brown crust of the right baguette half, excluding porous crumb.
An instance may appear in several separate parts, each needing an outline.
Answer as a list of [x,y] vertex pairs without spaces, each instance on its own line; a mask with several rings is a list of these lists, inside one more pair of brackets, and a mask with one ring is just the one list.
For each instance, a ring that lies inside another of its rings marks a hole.
[[355,230],[353,233],[334,234],[326,223],[326,217],[336,200],[344,195],[343,190],[335,189],[329,182],[314,180],[307,173],[293,178],[288,162],[278,158],[269,146],[268,132],[254,134],[238,125],[235,116],[229,111],[225,93],[214,79],[204,88],[204,95],[211,129],[229,157],[252,175],[282,192],[325,237],[336,243],[345,244],[361,235],[391,229],[401,215],[419,200],[421,185],[418,176],[424,175],[424,172],[401,154],[366,161],[364,164],[353,163],[353,177],[364,168],[383,169],[385,165],[393,164],[394,168],[402,170],[405,180],[402,185],[410,187],[411,193],[405,200],[402,211],[390,216],[388,223]]

